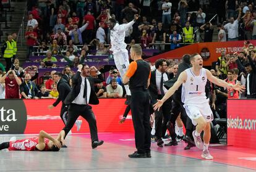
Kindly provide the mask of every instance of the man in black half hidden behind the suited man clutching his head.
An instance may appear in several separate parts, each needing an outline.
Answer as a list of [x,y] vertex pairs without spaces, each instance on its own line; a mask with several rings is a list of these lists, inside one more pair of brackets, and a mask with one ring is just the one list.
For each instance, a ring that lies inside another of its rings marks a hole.
[[53,80],[57,83],[57,90],[59,92],[59,97],[56,99],[54,104],[49,105],[48,109],[53,109],[53,107],[56,107],[59,102],[62,102],[61,105],[61,120],[63,121],[64,125],[67,123],[67,107],[68,105],[64,104],[64,100],[67,97],[67,94],[71,91],[71,88],[69,84],[67,83],[67,80],[62,78],[62,75],[60,72],[56,72],[53,74]]

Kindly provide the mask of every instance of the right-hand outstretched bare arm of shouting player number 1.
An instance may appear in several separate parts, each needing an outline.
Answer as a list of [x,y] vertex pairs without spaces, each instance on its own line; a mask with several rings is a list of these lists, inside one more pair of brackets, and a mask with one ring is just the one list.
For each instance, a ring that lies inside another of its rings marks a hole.
[[245,90],[245,86],[242,86],[240,83],[236,83],[235,85],[229,84],[226,81],[220,80],[215,76],[211,75],[211,72],[207,70],[207,78],[211,83],[217,84],[218,86],[226,87],[226,88],[233,88],[236,91],[242,92]]

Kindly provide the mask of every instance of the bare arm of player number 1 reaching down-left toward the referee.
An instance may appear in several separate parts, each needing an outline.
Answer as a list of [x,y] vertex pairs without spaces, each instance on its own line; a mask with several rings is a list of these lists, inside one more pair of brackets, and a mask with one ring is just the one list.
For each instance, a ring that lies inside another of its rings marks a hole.
[[182,72],[181,75],[179,75],[179,78],[177,79],[177,81],[173,84],[173,86],[168,89],[164,97],[161,100],[157,100],[156,104],[153,105],[154,110],[156,109],[159,110],[160,107],[165,102],[165,100],[169,99],[169,97],[171,97],[174,94],[174,92],[179,88],[179,86],[181,86],[181,84],[186,80],[187,80],[187,73]]

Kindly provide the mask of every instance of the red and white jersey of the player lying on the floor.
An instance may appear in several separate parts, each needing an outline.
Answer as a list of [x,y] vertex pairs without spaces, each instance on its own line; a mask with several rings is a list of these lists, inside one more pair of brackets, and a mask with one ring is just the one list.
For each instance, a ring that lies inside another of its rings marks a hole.
[[[45,139],[45,149],[44,150],[49,150],[48,142],[49,142],[49,139]],[[17,141],[11,141],[8,149],[9,150],[33,151],[33,150],[36,150],[37,144],[38,144],[38,137],[27,138],[27,139],[22,139],[22,140],[17,140]]]

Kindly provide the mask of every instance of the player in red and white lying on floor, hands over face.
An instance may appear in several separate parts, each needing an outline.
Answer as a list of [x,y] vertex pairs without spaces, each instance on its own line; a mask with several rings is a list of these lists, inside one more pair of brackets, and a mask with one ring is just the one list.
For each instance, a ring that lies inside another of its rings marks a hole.
[[39,150],[39,151],[59,151],[61,145],[64,144],[64,131],[59,133],[59,136],[54,139],[45,131],[41,130],[38,137],[20,139],[16,141],[3,142],[0,144],[0,150]]

